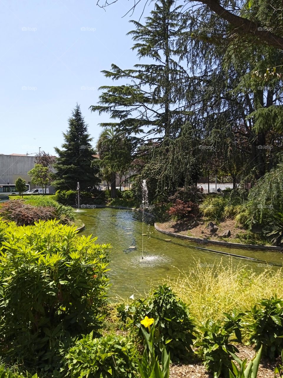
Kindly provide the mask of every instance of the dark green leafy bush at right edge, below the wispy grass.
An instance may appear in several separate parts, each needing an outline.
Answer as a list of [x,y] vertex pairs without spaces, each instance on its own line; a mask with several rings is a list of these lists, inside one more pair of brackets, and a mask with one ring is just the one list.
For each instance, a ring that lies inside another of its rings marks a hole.
[[283,299],[276,296],[263,299],[247,316],[250,341],[256,350],[263,345],[263,355],[270,359],[280,356],[283,347]]

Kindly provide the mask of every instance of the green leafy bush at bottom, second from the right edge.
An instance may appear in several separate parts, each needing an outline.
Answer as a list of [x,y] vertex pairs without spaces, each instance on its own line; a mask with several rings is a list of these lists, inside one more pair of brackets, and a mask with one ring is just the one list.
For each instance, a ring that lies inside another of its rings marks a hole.
[[[232,369],[231,355],[229,353],[238,352],[232,344],[233,341],[241,342],[241,316],[243,314],[225,314],[223,322],[208,319],[206,324],[200,328],[201,339],[195,343],[197,354],[203,359],[204,365],[216,377],[221,374],[229,376],[229,369]],[[235,338],[232,339],[232,335]]]

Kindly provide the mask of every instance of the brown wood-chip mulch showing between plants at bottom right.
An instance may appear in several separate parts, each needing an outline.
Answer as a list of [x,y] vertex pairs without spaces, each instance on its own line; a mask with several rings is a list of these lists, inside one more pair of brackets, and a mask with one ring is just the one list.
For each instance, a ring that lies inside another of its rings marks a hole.
[[[239,353],[237,356],[241,360],[247,358],[248,362],[254,357],[255,351],[252,347],[246,345],[237,345]],[[274,378],[275,364],[270,364],[268,361],[261,360],[258,369],[257,378]],[[279,375],[277,375],[279,377]],[[170,378],[213,378],[213,375],[205,370],[201,364],[194,365],[172,365],[170,367]]]

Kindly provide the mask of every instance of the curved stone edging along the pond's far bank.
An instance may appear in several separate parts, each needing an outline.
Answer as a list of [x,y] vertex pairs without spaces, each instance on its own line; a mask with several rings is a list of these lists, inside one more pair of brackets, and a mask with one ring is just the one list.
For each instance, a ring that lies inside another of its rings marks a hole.
[[[94,206],[94,205],[92,205]],[[134,210],[134,211],[139,211],[141,212],[140,209],[137,208],[127,208],[126,206],[106,206],[106,205],[95,205],[95,208],[112,208],[112,209],[126,209],[126,210]],[[145,212],[146,215],[149,215],[152,218],[155,218],[154,215]],[[276,246],[269,246],[269,245],[258,245],[258,244],[241,244],[241,243],[229,243],[229,242],[220,242],[218,240],[210,240],[210,239],[201,239],[197,237],[192,237],[192,236],[186,236],[182,234],[177,234],[175,232],[170,232],[170,231],[165,231],[162,230],[157,226],[157,223],[154,222],[154,227],[157,231],[162,232],[163,234],[171,235],[178,237],[180,239],[187,239],[191,240],[192,242],[197,242],[197,243],[205,243],[205,244],[217,244],[217,245],[224,245],[225,247],[240,247],[240,248],[253,248],[253,249],[269,249],[273,251],[283,251],[282,247],[276,247]]]

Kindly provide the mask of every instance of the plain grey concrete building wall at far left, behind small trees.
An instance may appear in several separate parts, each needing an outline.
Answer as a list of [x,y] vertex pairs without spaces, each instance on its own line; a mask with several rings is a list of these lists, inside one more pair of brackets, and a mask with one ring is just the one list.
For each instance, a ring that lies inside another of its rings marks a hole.
[[[0,154],[0,185],[14,184],[18,177],[23,178],[26,184],[30,184],[31,189],[38,188],[31,184],[31,177],[28,171],[34,167],[35,156],[17,156]],[[52,186],[47,186],[54,192]]]

